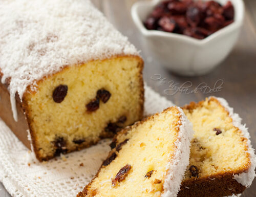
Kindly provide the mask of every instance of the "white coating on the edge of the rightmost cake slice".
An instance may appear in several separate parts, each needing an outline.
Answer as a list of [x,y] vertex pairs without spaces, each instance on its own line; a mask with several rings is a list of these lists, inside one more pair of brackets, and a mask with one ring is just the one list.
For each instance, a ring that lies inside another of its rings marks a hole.
[[[214,97],[216,98],[216,97]],[[233,113],[233,108],[230,107],[227,103],[227,101],[224,98],[216,98],[223,107],[228,111],[229,116],[233,120],[233,125],[239,128],[241,132],[243,133],[243,136],[247,139],[247,152],[250,155],[250,162],[251,165],[247,172],[243,172],[240,174],[234,174],[233,179],[235,179],[238,183],[242,184],[245,187],[249,187],[255,177],[255,167],[256,167],[256,156],[254,153],[254,149],[252,148],[251,141],[250,141],[250,134],[248,132],[248,128],[244,124],[241,124],[242,119],[239,117],[238,114]]]

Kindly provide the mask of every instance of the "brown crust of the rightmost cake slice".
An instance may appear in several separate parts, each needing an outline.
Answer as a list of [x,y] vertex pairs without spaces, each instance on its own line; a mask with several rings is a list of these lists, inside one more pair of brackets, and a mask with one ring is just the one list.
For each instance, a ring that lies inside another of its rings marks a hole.
[[[206,98],[208,102],[216,102],[220,105],[223,110],[229,114],[229,112],[221,105],[218,99],[214,97]],[[205,101],[200,101],[198,103],[191,102],[188,105],[182,107],[183,110],[188,110],[189,113],[193,112],[195,108],[202,107]],[[242,133],[239,128],[238,132]],[[243,138],[242,141],[247,139]],[[247,149],[245,149],[247,151]],[[248,155],[249,157],[249,155]],[[249,169],[250,162],[243,166],[242,169],[238,169],[232,172],[223,172],[214,174],[211,177],[192,177],[190,179],[184,180],[181,184],[178,197],[200,197],[202,193],[207,193],[209,197],[219,197],[219,196],[229,196],[232,194],[242,193],[246,187],[238,183],[233,179],[234,174],[239,174],[246,172]]]

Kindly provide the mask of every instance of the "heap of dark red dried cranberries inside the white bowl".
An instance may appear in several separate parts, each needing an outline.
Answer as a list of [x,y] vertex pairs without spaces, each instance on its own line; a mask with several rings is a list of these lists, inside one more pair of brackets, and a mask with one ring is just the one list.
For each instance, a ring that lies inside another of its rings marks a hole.
[[233,22],[231,2],[170,0],[159,3],[147,18],[147,29],[184,34],[203,39]]

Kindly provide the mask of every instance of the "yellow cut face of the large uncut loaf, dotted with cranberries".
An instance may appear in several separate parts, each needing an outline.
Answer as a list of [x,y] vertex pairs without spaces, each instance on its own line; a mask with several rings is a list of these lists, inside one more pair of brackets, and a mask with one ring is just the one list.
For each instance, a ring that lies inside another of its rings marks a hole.
[[[134,56],[81,63],[39,81],[36,92],[27,91],[23,101],[39,158],[89,146],[139,120],[142,64]],[[61,102],[55,102],[53,94],[59,85],[65,85],[67,92]],[[99,90],[108,91],[109,98],[99,99],[98,109],[88,111],[89,103],[95,106],[92,102]]]

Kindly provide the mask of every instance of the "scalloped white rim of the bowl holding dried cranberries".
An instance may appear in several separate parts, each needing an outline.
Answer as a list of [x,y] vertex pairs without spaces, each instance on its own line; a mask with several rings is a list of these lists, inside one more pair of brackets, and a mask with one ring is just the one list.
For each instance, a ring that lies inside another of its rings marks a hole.
[[[219,37],[222,34],[226,34],[226,33],[232,32],[235,29],[240,28],[243,24],[244,2],[243,2],[243,0],[236,0],[238,5],[237,5],[237,7],[234,6],[235,7],[235,19],[234,19],[233,23],[218,30],[217,32],[209,35],[208,37],[206,37],[204,39],[197,39],[197,38],[189,37],[189,36],[182,35],[182,34],[163,32],[163,31],[159,31],[159,30],[147,30],[144,27],[142,20],[140,19],[139,15],[138,15],[138,10],[140,7],[151,7],[153,9],[153,7],[156,6],[161,1],[162,0],[152,0],[149,2],[146,2],[146,1],[136,2],[132,6],[131,12],[132,12],[132,18],[134,20],[134,23],[138,27],[138,29],[142,32],[142,34],[145,36],[161,36],[161,37],[166,37],[166,38],[175,38],[175,39],[187,41],[187,42],[190,42],[190,43],[200,46],[200,45],[204,45],[205,43],[214,40],[216,37]],[[240,12],[240,13],[236,13],[236,12]]]

